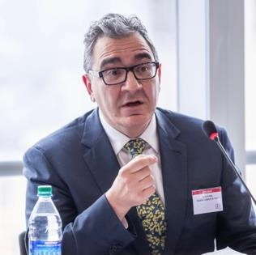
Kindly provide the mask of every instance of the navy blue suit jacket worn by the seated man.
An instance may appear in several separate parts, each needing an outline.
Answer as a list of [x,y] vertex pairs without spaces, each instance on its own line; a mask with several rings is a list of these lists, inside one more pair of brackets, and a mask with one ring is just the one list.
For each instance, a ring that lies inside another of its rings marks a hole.
[[[227,245],[256,254],[256,220],[249,195],[220,151],[202,132],[202,121],[156,109],[163,175],[167,244],[164,254],[201,254]],[[226,132],[220,140],[233,157]],[[148,255],[135,208],[117,219],[105,192],[120,166],[97,109],[30,148],[23,159],[28,179],[27,222],[37,185],[53,185],[53,202],[63,223],[63,255]],[[222,187],[222,212],[194,215],[191,191]]]

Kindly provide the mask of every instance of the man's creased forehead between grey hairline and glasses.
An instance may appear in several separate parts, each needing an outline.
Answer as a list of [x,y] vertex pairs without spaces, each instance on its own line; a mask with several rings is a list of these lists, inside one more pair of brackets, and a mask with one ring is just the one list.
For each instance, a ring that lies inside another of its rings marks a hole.
[[92,51],[92,69],[101,70],[105,66],[133,65],[140,60],[153,61],[153,53],[147,41],[138,32],[122,38],[103,36],[96,40]]

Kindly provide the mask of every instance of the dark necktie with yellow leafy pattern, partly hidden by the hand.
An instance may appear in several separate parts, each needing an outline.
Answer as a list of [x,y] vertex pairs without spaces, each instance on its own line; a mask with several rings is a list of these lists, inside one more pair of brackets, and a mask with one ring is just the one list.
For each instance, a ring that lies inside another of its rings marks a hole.
[[[142,138],[130,140],[124,146],[135,156],[142,154],[146,142]],[[145,204],[137,206],[139,218],[147,237],[151,255],[160,255],[164,250],[167,223],[165,221],[164,206],[157,193],[153,193]]]

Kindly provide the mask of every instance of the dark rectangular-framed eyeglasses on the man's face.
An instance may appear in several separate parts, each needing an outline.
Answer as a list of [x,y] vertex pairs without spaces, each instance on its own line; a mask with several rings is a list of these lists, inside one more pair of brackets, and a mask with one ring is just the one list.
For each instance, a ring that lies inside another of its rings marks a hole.
[[152,79],[156,76],[159,62],[147,62],[130,67],[115,67],[107,70],[95,71],[89,70],[91,74],[97,74],[103,79],[106,85],[116,85],[125,83],[129,71],[132,71],[137,80]]

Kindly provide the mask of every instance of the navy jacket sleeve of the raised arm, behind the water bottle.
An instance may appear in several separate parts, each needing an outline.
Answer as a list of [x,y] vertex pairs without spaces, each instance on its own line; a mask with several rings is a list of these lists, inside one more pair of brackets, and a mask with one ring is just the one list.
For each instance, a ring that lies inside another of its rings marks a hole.
[[24,155],[23,164],[23,173],[28,179],[27,224],[36,203],[37,186],[52,185],[53,202],[62,218],[63,255],[114,254],[134,240],[117,218],[105,194],[78,215],[66,183],[55,171],[41,147],[32,147],[28,150]]

